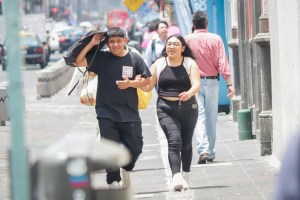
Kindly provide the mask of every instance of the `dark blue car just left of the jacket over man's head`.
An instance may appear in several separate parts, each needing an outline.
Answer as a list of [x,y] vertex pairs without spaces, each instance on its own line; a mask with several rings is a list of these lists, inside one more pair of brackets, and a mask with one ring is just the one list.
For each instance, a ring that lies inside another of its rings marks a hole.
[[62,53],[67,50],[85,34],[85,30],[81,27],[62,31],[61,36],[59,37],[59,52]]

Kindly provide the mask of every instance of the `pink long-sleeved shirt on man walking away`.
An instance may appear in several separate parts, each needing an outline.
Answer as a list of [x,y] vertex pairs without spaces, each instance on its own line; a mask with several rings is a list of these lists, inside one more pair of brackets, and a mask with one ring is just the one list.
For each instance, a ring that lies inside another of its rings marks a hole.
[[231,76],[221,37],[206,29],[197,29],[184,37],[192,49],[201,76],[215,76],[221,72],[224,79]]

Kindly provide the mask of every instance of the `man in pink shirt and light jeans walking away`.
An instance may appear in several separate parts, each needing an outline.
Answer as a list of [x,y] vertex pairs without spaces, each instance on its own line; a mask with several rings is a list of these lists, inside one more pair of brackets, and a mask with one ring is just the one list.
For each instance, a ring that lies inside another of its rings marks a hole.
[[219,73],[227,82],[228,98],[233,97],[235,90],[230,80],[231,73],[223,41],[219,35],[207,31],[207,14],[202,11],[195,12],[192,22],[195,31],[184,39],[193,50],[201,74],[195,137],[200,155],[198,164],[205,164],[206,161],[213,162],[216,155]]

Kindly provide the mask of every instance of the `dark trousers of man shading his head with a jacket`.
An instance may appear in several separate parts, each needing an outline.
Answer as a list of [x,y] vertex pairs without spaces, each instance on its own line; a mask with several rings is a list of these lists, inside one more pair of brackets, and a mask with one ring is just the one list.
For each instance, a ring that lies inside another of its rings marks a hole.
[[[122,168],[126,171],[132,171],[143,148],[141,122],[116,122],[106,118],[98,118],[98,123],[101,137],[118,143],[122,142],[129,149],[132,160],[128,165],[122,166]],[[121,180],[120,169],[116,171],[107,169],[106,172],[108,184]]]

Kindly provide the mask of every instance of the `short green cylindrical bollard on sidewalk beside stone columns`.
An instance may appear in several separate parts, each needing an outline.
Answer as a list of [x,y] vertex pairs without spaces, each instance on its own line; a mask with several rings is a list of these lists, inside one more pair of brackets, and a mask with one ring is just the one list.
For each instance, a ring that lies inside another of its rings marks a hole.
[[250,140],[252,136],[251,112],[249,109],[237,111],[239,140]]

